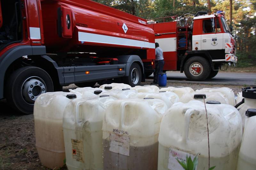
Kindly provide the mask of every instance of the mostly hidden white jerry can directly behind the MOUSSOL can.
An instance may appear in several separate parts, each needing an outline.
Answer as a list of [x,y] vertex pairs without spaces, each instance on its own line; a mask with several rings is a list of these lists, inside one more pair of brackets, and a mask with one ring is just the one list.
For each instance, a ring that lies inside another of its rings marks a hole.
[[179,101],[178,95],[169,91],[159,91],[159,92],[140,92],[136,97],[143,98],[155,98],[164,101],[168,108],[170,108],[174,103]]

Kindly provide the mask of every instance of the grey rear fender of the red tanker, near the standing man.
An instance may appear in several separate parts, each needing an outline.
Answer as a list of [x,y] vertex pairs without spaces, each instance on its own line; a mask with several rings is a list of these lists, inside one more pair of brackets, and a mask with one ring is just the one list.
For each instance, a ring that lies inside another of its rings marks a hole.
[[143,62],[138,55],[120,55],[120,56],[117,56],[116,58],[118,59],[118,64],[126,64],[125,76],[129,75],[129,70],[132,63],[136,62],[140,65],[141,73],[143,77],[144,75]]

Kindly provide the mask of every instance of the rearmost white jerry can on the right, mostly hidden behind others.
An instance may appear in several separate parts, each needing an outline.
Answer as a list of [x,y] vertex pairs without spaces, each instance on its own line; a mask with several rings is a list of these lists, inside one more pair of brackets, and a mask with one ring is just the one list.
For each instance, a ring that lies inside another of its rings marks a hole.
[[235,94],[232,89],[228,87],[220,87],[220,88],[203,88],[200,90],[196,90],[197,93],[205,93],[205,92],[220,92],[224,97],[228,99],[228,103],[232,106],[236,105]]

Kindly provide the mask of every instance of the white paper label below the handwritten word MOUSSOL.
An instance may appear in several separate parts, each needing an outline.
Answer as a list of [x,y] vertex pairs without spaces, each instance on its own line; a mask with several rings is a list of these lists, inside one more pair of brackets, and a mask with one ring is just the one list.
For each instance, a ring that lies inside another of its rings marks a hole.
[[109,151],[130,156],[130,138],[128,136],[109,134]]

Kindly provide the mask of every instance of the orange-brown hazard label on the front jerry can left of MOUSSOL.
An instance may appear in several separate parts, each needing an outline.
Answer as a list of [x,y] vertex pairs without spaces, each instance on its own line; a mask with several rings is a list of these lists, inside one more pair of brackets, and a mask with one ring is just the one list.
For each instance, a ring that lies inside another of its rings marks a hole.
[[82,140],[71,139],[72,158],[79,162],[84,162],[84,146]]

